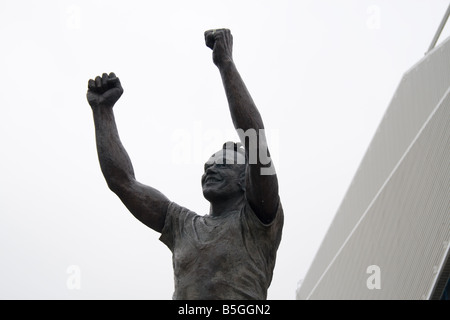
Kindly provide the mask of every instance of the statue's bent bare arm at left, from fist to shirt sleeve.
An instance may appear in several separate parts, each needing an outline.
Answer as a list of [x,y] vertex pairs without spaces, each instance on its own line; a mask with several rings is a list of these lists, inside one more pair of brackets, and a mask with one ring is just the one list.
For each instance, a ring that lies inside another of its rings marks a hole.
[[169,200],[158,190],[136,181],[130,158],[123,147],[114,119],[113,106],[123,93],[114,73],[91,79],[87,99],[91,105],[97,153],[108,187],[142,223],[161,232]]

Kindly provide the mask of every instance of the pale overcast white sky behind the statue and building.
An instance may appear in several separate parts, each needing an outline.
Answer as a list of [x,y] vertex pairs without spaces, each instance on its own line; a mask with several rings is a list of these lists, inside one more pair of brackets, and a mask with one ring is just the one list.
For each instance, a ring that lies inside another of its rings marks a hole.
[[137,179],[205,214],[203,163],[238,139],[203,39],[227,27],[285,210],[268,298],[294,299],[403,73],[423,57],[448,4],[2,0],[0,298],[171,299],[169,249],[101,174],[87,81],[120,77],[116,120]]

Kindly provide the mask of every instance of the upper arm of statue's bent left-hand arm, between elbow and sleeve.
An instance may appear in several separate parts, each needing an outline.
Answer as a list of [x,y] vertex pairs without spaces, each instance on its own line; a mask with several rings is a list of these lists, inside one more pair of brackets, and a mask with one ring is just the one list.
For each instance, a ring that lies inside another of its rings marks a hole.
[[123,184],[115,193],[139,221],[157,232],[162,231],[170,203],[164,194],[136,180]]

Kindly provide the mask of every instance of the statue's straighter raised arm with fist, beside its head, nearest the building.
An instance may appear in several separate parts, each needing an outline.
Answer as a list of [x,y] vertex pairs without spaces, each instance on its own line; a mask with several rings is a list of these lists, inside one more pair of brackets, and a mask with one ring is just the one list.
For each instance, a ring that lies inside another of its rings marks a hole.
[[270,159],[261,115],[233,61],[233,36],[228,29],[208,30],[205,41],[213,50],[213,61],[222,77],[231,118],[249,160],[247,200],[258,218],[270,223],[280,201],[278,179]]

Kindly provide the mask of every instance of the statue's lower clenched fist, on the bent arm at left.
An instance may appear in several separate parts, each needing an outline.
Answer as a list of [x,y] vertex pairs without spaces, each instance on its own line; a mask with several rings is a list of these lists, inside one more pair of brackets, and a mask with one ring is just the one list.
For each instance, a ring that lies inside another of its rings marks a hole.
[[111,72],[88,82],[87,99],[91,107],[112,108],[123,93],[119,78]]

